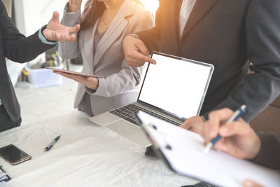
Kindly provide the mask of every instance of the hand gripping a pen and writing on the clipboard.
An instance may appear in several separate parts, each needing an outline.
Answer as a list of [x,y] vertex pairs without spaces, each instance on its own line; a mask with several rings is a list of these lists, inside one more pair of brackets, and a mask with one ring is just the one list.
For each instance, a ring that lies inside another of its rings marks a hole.
[[205,143],[208,143],[221,135],[214,146],[216,150],[223,151],[237,158],[252,159],[260,151],[260,139],[253,129],[243,119],[223,125],[234,112],[230,109],[221,109],[209,113],[207,128],[209,131],[204,134]]

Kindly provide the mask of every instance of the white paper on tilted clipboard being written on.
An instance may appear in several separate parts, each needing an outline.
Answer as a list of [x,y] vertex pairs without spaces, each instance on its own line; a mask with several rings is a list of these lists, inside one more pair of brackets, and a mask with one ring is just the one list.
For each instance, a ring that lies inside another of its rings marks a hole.
[[220,151],[204,154],[204,140],[181,127],[140,111],[143,129],[175,172],[218,186],[241,186],[251,179],[263,186],[279,186],[280,174]]

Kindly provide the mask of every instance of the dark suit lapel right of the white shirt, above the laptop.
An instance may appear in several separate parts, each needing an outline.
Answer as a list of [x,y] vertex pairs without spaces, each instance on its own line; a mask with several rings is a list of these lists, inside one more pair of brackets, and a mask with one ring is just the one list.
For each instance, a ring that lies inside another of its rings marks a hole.
[[216,4],[218,0],[197,0],[193,8],[192,13],[190,13],[190,18],[183,31],[183,35],[186,35],[195,24],[200,21],[200,19],[209,11],[209,9]]

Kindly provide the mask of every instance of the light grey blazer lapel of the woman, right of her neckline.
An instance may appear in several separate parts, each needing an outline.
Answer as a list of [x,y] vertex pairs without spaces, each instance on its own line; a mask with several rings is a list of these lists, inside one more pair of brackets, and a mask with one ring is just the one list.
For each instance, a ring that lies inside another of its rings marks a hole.
[[97,44],[97,48],[95,50],[94,56],[94,65],[98,64],[102,59],[103,55],[106,51],[110,48],[116,39],[123,33],[125,28],[128,25],[126,20],[127,17],[131,17],[133,15],[133,6],[134,1],[132,0],[125,0],[120,6],[120,9],[113,19],[113,22],[107,29],[106,33],[102,37],[101,41]]

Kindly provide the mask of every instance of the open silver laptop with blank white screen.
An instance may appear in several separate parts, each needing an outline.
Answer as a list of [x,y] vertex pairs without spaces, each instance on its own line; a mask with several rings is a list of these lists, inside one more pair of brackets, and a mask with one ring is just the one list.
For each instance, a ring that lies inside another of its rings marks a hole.
[[159,52],[152,57],[157,64],[148,64],[137,102],[90,118],[144,147],[151,141],[141,130],[135,113],[144,111],[174,125],[198,116],[214,71],[212,64],[182,57]]

